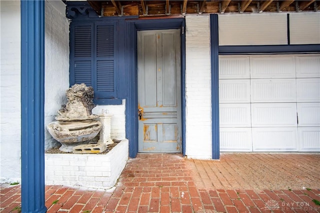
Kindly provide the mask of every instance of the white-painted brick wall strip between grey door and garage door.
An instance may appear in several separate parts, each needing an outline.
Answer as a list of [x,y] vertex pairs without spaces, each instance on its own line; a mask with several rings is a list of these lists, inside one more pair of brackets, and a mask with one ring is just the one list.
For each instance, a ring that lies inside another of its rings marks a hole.
[[208,15],[185,16],[186,150],[211,159],[211,66]]

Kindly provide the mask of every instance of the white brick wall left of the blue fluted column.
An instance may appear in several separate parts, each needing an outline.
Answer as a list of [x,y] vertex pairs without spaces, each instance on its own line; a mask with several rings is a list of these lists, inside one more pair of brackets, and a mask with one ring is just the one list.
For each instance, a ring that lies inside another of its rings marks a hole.
[[0,8],[0,181],[20,182],[20,1]]

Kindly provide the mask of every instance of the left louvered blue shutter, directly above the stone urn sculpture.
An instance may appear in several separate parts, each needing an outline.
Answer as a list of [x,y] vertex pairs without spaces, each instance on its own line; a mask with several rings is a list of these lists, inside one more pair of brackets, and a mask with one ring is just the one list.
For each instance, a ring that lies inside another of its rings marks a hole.
[[92,85],[93,24],[74,26],[73,39],[73,49],[70,54],[71,57],[73,56],[70,58],[70,82]]

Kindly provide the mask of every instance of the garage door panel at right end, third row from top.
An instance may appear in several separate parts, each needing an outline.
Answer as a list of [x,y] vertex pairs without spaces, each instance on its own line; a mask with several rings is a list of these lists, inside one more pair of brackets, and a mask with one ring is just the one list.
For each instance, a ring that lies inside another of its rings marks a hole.
[[298,126],[320,126],[320,102],[297,103]]

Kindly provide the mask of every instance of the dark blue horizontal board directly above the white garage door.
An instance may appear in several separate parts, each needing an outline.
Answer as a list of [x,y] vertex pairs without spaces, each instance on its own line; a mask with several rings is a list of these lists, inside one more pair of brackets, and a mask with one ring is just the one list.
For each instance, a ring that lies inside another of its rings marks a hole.
[[320,44],[219,46],[219,54],[318,53]]

